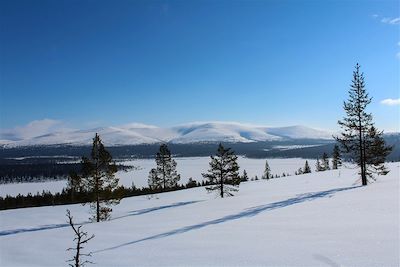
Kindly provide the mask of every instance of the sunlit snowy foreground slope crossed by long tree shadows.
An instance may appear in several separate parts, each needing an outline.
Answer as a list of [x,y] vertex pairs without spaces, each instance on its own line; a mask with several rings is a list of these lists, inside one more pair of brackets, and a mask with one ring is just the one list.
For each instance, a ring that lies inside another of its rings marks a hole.
[[2,211],[0,266],[66,266],[67,208],[96,235],[93,266],[399,266],[400,163],[388,167],[367,187],[343,168],[243,183],[231,198],[126,198],[100,223],[81,205]]

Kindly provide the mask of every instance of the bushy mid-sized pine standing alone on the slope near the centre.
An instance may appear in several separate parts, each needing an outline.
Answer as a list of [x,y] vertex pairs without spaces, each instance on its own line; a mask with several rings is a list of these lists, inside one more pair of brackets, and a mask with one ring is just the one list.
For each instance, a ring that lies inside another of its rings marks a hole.
[[218,190],[221,198],[232,196],[240,184],[237,156],[230,148],[225,149],[219,144],[217,155],[211,156],[208,173],[202,175],[212,184],[206,187],[207,191]]

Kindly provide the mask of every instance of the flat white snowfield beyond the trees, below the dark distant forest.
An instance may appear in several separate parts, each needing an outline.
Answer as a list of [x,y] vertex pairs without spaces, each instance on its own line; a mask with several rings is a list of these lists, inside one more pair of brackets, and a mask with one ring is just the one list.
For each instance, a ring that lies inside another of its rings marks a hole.
[[[207,172],[210,162],[210,157],[190,157],[176,158],[177,170],[181,174],[180,183],[185,184],[190,177],[196,181],[201,181],[201,173]],[[261,178],[265,167],[265,159],[249,159],[239,157],[240,174],[243,169],[247,171],[249,177],[257,175]],[[308,160],[311,168],[315,169],[315,160]],[[294,174],[300,167],[304,167],[305,159],[290,158],[290,159],[268,159],[273,174],[281,175],[282,172]],[[154,159],[138,159],[134,161],[125,161],[124,164],[135,166],[128,172],[120,171],[117,177],[120,178],[120,184],[131,186],[132,182],[136,187],[147,186],[147,177],[151,168],[156,166]],[[66,186],[66,181],[39,182],[39,183],[17,183],[0,185],[0,196],[16,196],[18,194],[26,195],[28,193],[36,194],[43,190],[52,193],[61,192]]]

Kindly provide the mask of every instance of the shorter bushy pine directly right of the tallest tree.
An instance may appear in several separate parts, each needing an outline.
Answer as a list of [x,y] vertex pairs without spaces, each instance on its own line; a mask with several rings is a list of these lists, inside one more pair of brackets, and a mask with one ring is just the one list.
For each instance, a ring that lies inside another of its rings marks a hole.
[[372,176],[373,173],[385,175],[388,173],[384,163],[386,157],[390,154],[393,147],[386,146],[383,139],[383,132],[376,130],[372,126],[365,137],[365,162],[366,175]]

